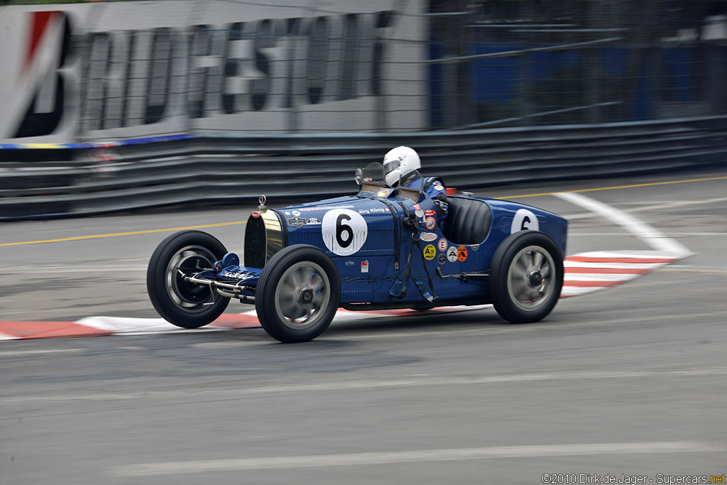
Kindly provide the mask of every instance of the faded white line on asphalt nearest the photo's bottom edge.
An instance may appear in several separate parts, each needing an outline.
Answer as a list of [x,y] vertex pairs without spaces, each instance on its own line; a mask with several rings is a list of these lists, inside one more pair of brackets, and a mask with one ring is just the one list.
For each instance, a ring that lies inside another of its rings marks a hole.
[[482,448],[418,449],[403,452],[312,454],[287,457],[228,458],[183,462],[156,462],[111,467],[116,476],[180,475],[281,468],[320,468],[388,463],[491,460],[497,458],[575,457],[604,454],[660,454],[723,452],[724,446],[702,441],[642,441],[632,443],[577,443]]

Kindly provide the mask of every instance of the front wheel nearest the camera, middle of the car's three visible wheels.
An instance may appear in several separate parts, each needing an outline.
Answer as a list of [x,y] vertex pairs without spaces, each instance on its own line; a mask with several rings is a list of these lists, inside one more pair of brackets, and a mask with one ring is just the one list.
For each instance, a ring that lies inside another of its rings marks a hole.
[[281,342],[308,342],[331,324],[341,300],[333,260],[308,244],[288,246],[270,258],[257,281],[255,310],[262,328]]

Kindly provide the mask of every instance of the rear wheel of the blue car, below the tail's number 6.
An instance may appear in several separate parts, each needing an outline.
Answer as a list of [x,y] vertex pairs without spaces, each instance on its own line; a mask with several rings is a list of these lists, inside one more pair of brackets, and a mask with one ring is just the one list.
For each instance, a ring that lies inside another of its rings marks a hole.
[[544,233],[511,234],[495,251],[490,268],[492,304],[513,324],[542,320],[561,297],[563,254]]

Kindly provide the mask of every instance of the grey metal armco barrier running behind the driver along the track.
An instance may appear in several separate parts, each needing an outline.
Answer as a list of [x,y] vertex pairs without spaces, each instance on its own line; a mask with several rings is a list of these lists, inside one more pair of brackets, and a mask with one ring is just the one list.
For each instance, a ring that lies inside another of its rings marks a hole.
[[353,170],[396,145],[416,148],[426,174],[466,190],[720,164],[726,142],[727,116],[719,116],[460,132],[1,145],[0,220],[254,201],[260,193],[273,205],[276,199],[319,199],[353,191]]

